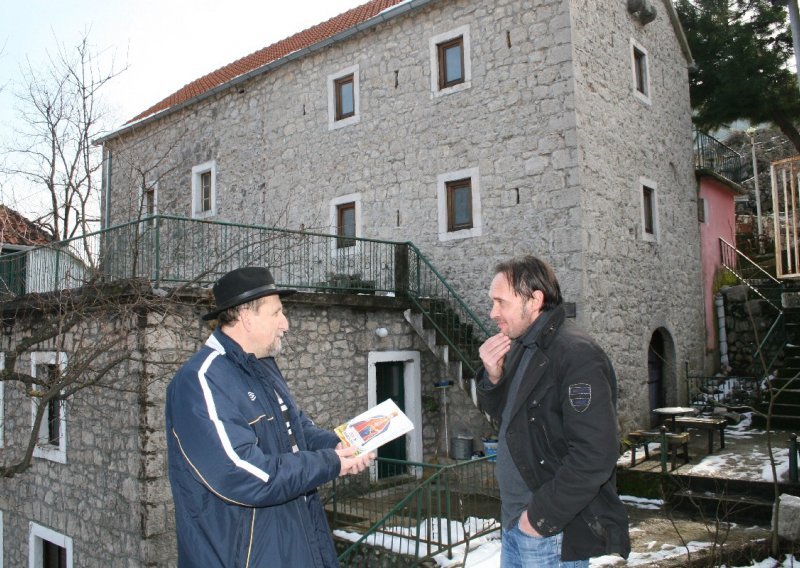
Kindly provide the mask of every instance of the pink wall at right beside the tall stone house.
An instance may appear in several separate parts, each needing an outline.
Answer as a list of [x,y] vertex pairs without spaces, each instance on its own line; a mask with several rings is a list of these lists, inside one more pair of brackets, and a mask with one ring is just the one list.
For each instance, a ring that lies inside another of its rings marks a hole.
[[703,292],[706,306],[706,348],[717,345],[714,308],[714,273],[722,265],[719,239],[736,245],[736,193],[724,183],[708,176],[700,178],[699,197],[705,200],[705,222],[700,223],[700,255],[703,263]]

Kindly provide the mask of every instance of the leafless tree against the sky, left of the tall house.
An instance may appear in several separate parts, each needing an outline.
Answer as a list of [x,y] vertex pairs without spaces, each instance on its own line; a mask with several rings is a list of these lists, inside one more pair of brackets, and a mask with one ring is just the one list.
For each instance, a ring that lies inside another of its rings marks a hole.
[[92,140],[104,127],[101,90],[121,72],[113,60],[108,67],[84,35],[48,55],[43,67],[28,61],[22,70],[14,147],[6,149],[3,169],[45,192],[35,221],[56,240],[85,234],[99,220],[102,155]]

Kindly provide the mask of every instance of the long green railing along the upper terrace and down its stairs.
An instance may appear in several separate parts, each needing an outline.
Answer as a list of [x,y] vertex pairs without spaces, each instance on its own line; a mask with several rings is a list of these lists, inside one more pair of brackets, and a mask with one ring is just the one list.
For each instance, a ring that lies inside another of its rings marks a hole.
[[474,372],[489,336],[411,243],[155,215],[49,246],[0,256],[0,299],[143,278],[155,287],[208,286],[241,266],[268,266],[285,287],[408,298]]

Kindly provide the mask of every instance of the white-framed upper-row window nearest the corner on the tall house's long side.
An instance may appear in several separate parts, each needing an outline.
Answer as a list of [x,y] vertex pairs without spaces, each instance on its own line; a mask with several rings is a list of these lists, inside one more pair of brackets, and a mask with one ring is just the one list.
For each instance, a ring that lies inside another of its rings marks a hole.
[[431,91],[435,96],[471,86],[469,26],[461,26],[431,37]]

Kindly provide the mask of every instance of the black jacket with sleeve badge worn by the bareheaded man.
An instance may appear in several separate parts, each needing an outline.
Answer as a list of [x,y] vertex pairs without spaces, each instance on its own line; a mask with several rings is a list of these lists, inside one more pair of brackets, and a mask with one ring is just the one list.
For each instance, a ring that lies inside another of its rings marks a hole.
[[[506,439],[533,492],[528,519],[543,536],[564,532],[564,561],[630,553],[628,515],[616,492],[619,441],[616,376],[608,356],[555,308],[538,337],[518,338],[493,385],[478,371],[481,408],[500,420],[513,404]],[[507,401],[524,345],[538,349],[516,400]]]

